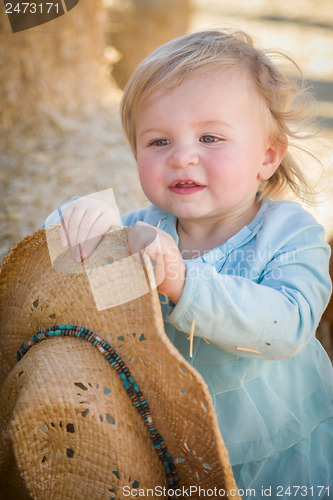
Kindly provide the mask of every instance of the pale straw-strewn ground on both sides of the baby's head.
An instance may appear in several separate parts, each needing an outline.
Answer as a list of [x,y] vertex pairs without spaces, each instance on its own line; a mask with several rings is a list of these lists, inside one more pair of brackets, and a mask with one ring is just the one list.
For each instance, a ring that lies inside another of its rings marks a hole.
[[[236,27],[259,45],[293,54],[318,99],[325,164],[320,204],[310,207],[333,237],[333,9],[331,0],[192,0],[189,31]],[[138,41],[138,43],[140,43]],[[118,117],[120,91],[100,113],[55,116],[49,128],[0,137],[0,257],[73,196],[112,187],[121,213],[146,206]],[[318,173],[306,163],[309,173]]]

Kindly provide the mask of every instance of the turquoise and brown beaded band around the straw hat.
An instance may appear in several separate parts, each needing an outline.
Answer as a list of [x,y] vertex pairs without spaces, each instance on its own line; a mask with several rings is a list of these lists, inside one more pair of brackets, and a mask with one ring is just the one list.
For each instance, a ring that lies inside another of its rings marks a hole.
[[[32,335],[27,342],[22,344],[17,351],[17,361],[20,361],[33,345],[52,337],[76,337],[85,339],[94,345],[101,354],[103,354],[110,366],[112,366],[112,368],[114,368],[119,374],[133,406],[141,415],[146,427],[148,427],[153,447],[166,474],[168,488],[175,490],[178,487],[179,482],[177,469],[174,464],[174,460],[165,445],[164,439],[156,430],[153,419],[150,415],[148,403],[140,391],[139,386],[135,383],[135,380],[133,379],[125,362],[106,340],[84,327],[76,325],[52,326],[51,328],[44,328],[43,330],[40,330]],[[176,497],[169,496],[168,498],[169,500],[173,500]]]

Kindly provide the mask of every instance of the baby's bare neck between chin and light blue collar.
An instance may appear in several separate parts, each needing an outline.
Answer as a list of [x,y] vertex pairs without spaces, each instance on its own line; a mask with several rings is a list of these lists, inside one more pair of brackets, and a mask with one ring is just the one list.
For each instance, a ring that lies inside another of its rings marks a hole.
[[253,207],[253,210],[237,220],[178,220],[178,247],[183,259],[195,259],[213,248],[223,245],[254,219],[259,208],[260,204],[258,203]]

